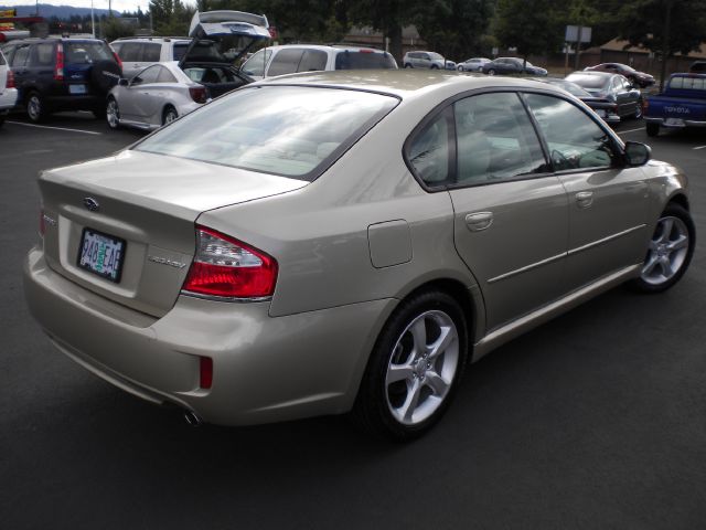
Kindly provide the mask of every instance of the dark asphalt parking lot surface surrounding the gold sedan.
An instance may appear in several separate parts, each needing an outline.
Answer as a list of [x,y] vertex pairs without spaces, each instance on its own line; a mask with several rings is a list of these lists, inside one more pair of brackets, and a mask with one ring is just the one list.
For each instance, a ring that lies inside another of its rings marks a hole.
[[706,520],[706,131],[627,140],[691,178],[699,240],[659,296],[618,288],[474,364],[409,445],[345,418],[191,428],[56,352],[21,266],[35,176],[139,139],[89,114],[0,128],[0,527],[695,529]]

